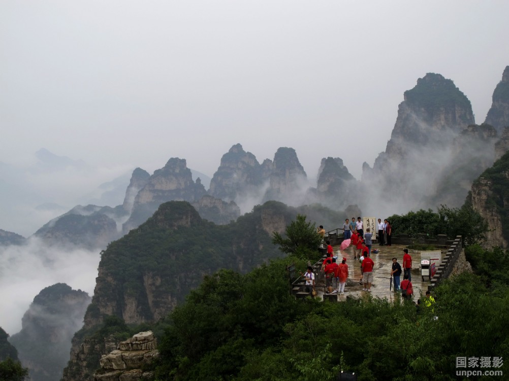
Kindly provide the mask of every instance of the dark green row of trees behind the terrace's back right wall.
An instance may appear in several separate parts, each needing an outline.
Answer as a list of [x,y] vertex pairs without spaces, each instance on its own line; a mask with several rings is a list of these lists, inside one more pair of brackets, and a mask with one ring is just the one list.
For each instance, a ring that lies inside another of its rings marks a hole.
[[429,238],[436,238],[438,234],[445,234],[448,239],[461,235],[466,245],[482,241],[488,229],[486,221],[468,202],[461,208],[441,205],[438,212],[420,209],[405,215],[394,214],[388,220],[394,235],[408,234],[416,238],[417,234],[423,233]]

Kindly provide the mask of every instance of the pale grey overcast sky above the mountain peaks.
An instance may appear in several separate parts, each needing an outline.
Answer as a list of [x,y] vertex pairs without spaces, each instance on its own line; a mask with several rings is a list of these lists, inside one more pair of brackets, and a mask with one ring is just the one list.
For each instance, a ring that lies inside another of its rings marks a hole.
[[[360,179],[426,73],[484,121],[509,65],[507,15],[506,1],[4,0],[0,164],[29,168],[45,148],[93,170],[32,173],[41,200],[4,210],[0,229],[33,234],[170,157],[212,177],[236,143],[259,162],[292,147],[312,181],[322,157],[341,157]],[[42,203],[63,209],[36,216]]]

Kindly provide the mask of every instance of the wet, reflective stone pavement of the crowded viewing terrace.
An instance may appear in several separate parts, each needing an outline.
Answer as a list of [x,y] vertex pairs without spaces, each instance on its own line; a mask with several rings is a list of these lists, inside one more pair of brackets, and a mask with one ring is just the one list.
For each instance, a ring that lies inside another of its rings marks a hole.
[[[401,301],[399,294],[394,293],[394,285],[392,285],[391,291],[389,291],[390,284],[390,272],[392,270],[392,258],[396,257],[398,263],[403,267],[403,249],[405,245],[391,245],[391,246],[380,246],[374,244],[371,248],[371,259],[375,263],[373,268],[373,283],[371,285],[371,293],[362,291],[364,285],[359,284],[360,278],[360,263],[358,260],[354,260],[354,248],[348,247],[346,250],[340,250],[339,245],[334,246],[334,255],[338,257],[337,263],[341,263],[341,259],[345,257],[347,259],[349,277],[345,285],[345,294],[338,295],[338,301],[344,300],[347,296],[360,298],[367,295],[371,295],[374,298],[387,298],[389,301]],[[378,253],[374,253],[373,250],[378,249]],[[338,250],[341,253],[338,255]],[[420,291],[426,293],[428,290],[429,278],[425,277],[425,281],[422,281],[420,276],[420,255],[410,254],[412,256],[412,285],[414,289],[414,301],[416,302]],[[403,281],[403,273],[401,274],[400,281]],[[317,287],[318,298],[323,298],[325,283],[320,284]]]

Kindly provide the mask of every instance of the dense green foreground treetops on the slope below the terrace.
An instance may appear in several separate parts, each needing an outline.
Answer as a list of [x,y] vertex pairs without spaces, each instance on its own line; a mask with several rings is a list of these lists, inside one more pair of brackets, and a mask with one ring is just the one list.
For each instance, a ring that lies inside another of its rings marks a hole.
[[467,257],[480,276],[445,280],[433,308],[421,303],[419,313],[413,302],[369,296],[289,297],[291,258],[246,275],[220,271],[172,314],[158,379],[333,381],[341,369],[359,381],[457,379],[457,357],[509,356],[509,279],[501,276],[509,256],[470,245]]

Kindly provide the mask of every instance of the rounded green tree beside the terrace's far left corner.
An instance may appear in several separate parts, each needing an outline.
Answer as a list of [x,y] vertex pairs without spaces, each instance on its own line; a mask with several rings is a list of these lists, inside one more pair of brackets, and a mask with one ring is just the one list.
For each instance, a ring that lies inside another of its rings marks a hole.
[[317,248],[322,241],[322,237],[317,234],[315,224],[306,221],[306,216],[297,214],[295,221],[287,226],[285,230],[286,238],[283,238],[278,232],[272,233],[272,243],[279,245],[279,250],[301,259],[316,257]]

